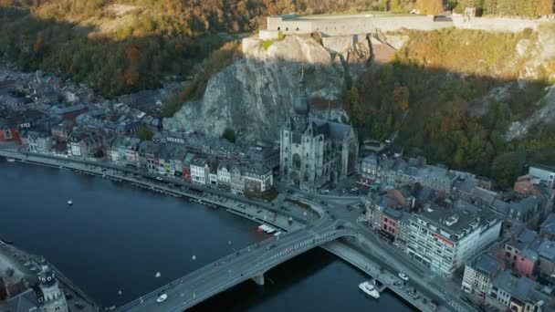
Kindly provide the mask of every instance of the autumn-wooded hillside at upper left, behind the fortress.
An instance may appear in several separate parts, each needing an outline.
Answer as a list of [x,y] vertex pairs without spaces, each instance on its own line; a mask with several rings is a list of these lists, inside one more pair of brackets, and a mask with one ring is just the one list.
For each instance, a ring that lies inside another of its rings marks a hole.
[[0,0],[0,56],[113,97],[156,88],[167,79],[204,75],[195,65],[234,39],[225,34],[255,31],[269,14],[381,5],[374,0]]

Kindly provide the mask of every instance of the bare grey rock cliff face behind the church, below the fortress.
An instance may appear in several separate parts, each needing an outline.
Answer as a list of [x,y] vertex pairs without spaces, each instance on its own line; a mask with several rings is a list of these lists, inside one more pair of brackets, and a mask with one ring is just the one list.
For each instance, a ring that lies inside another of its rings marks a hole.
[[246,140],[277,140],[303,68],[311,98],[338,99],[371,56],[367,40],[353,41],[337,53],[309,36],[287,36],[267,48],[261,40],[246,38],[243,52],[243,58],[209,80],[202,100],[185,103],[164,120],[164,129],[220,134],[229,127]]

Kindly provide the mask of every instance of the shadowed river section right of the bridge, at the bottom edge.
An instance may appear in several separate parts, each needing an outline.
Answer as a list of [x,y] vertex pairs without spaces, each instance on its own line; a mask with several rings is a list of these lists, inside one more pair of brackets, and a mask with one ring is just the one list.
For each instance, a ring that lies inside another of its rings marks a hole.
[[354,266],[321,248],[298,255],[265,274],[265,285],[247,281],[214,296],[191,311],[340,311],[375,308],[411,311],[388,291],[379,300],[361,293],[368,279]]

